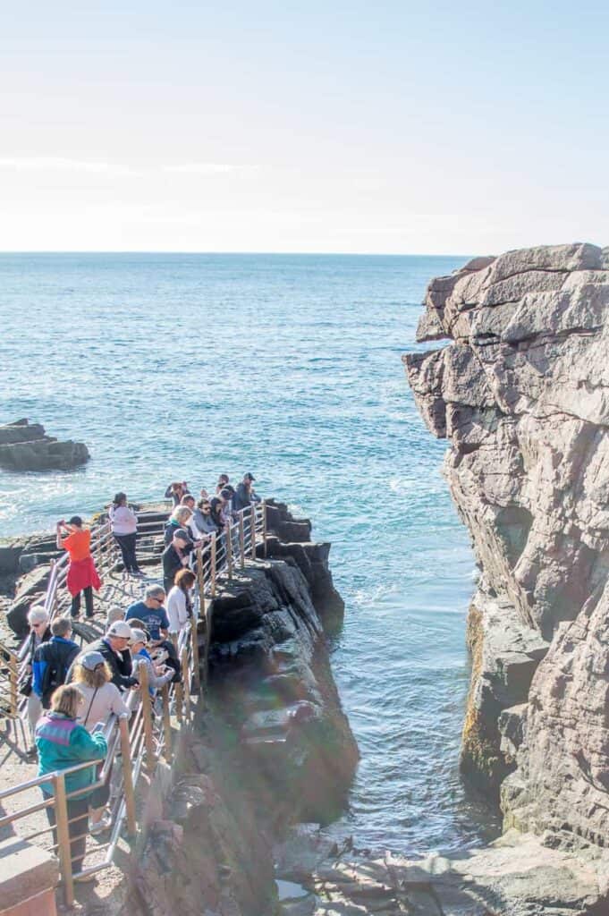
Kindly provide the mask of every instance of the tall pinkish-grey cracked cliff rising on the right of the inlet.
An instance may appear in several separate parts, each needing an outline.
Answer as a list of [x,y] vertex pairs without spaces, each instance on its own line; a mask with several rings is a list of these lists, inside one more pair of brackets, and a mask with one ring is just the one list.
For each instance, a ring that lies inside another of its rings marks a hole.
[[[432,280],[405,356],[481,570],[463,763],[548,845],[609,836],[609,248]],[[502,750],[503,748],[503,750]],[[496,766],[492,764],[495,759]]]

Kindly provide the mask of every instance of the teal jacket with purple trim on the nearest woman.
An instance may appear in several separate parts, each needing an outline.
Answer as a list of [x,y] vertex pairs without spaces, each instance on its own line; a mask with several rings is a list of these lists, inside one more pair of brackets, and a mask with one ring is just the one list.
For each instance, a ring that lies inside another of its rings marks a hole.
[[[38,776],[53,773],[56,769],[75,767],[85,760],[104,758],[108,745],[100,732],[90,735],[86,728],[75,719],[63,713],[47,713],[36,726],[36,747],[38,747]],[[95,767],[83,767],[66,776],[66,791],[86,789],[97,780]],[[43,782],[40,786],[46,795],[53,794],[53,783]],[[86,798],[83,792],[80,798]]]

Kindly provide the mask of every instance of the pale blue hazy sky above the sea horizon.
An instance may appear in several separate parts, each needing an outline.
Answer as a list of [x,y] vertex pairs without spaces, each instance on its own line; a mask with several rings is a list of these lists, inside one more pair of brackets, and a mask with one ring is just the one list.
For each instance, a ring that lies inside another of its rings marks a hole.
[[0,0],[0,251],[609,245],[609,4]]

